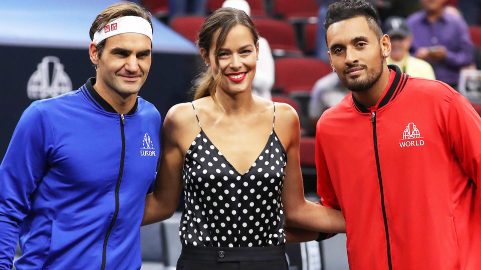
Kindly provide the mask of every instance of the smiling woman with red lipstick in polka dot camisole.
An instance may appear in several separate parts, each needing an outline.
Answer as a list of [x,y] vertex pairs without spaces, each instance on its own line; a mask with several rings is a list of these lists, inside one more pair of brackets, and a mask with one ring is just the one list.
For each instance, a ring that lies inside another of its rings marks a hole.
[[283,223],[343,232],[344,219],[304,198],[296,111],[251,92],[259,36],[250,17],[220,8],[198,38],[209,68],[194,101],[165,117],[142,223],[170,217],[183,189],[178,269],[288,269]]

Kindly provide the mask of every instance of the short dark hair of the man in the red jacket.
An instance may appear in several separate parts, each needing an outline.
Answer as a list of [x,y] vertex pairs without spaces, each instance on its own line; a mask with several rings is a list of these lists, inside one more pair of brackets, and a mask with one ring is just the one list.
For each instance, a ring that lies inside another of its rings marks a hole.
[[366,0],[341,0],[330,4],[324,20],[324,29],[327,32],[327,28],[331,24],[357,16],[364,16],[369,28],[378,38],[381,38],[382,30],[379,25],[379,15],[376,9]]

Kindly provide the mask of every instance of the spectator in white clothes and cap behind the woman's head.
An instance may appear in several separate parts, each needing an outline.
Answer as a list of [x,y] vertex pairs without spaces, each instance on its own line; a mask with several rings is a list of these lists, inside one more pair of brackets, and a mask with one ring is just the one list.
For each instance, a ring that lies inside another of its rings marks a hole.
[[[251,16],[251,7],[246,0],[226,0],[222,7],[232,7],[246,12]],[[252,93],[267,99],[272,99],[271,90],[274,85],[274,57],[271,46],[266,38],[259,37],[259,57],[257,60],[256,76],[252,81]]]

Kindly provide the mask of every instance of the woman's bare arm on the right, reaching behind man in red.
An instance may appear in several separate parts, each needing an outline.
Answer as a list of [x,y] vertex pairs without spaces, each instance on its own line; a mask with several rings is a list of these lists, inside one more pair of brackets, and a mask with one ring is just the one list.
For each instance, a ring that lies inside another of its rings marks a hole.
[[[283,103],[277,104],[281,120],[276,121],[278,127],[276,132],[287,151],[286,175],[282,190],[284,226],[329,233],[345,232],[346,222],[340,210],[305,199],[299,157],[299,117],[291,106]],[[310,237],[312,238],[312,236]]]

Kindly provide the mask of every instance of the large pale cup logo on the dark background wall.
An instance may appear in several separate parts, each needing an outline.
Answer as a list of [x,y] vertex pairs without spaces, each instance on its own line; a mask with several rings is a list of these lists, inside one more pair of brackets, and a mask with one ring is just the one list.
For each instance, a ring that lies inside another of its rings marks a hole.
[[[53,63],[50,81],[49,64]],[[72,91],[72,81],[64,71],[64,65],[55,56],[45,56],[37,65],[37,70],[30,76],[27,94],[30,99],[44,99]]]

